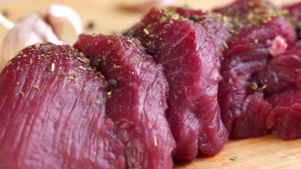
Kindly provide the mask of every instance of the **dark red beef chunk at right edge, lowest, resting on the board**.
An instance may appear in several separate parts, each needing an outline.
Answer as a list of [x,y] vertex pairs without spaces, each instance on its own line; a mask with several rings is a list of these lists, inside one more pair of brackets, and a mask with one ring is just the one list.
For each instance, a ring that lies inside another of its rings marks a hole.
[[282,139],[301,137],[301,91],[288,90],[268,98],[272,105],[268,126]]

